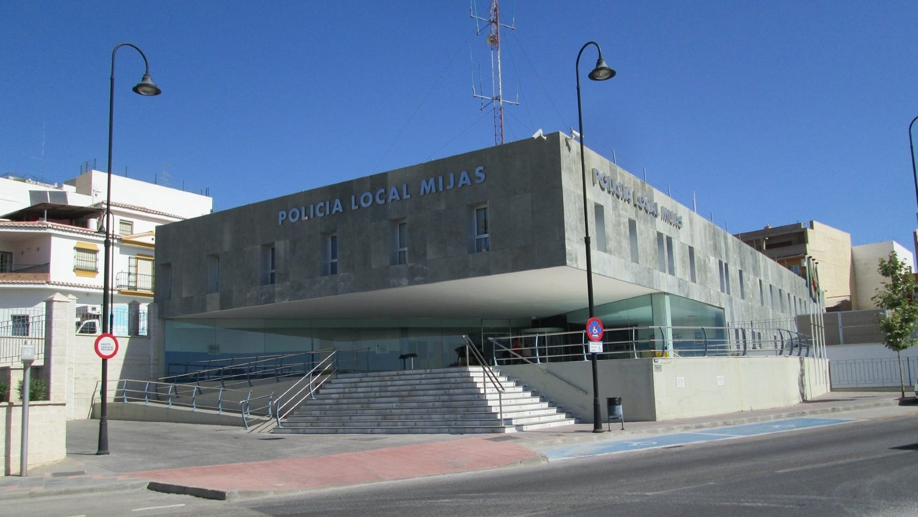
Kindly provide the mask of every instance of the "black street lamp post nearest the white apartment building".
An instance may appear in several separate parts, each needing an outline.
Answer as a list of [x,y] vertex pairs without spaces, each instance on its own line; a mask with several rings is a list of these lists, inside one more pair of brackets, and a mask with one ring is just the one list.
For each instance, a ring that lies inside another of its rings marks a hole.
[[[108,178],[106,185],[106,214],[102,222],[102,229],[106,232],[105,256],[102,259],[102,333],[108,333],[111,330],[111,307],[108,301],[111,277],[111,201],[112,201],[112,129],[115,119],[115,53],[121,47],[132,47],[135,51],[140,52],[143,58],[143,78],[140,83],[132,89],[141,96],[158,96],[162,93],[160,88],[153,84],[150,78],[150,64],[147,62],[147,56],[143,54],[136,45],[132,43],[120,43],[112,50],[112,73],[111,83],[108,90]],[[107,393],[108,384],[108,361],[102,360],[102,383],[99,388],[101,408],[99,410],[99,446],[95,452],[96,455],[108,454],[108,414],[107,414]]]

